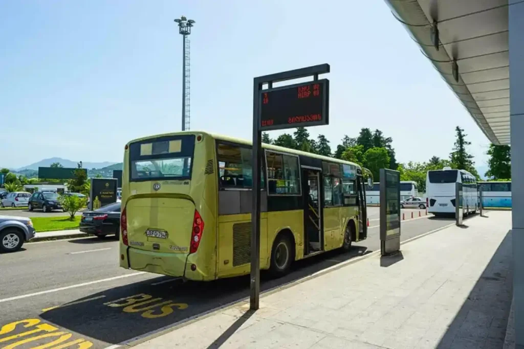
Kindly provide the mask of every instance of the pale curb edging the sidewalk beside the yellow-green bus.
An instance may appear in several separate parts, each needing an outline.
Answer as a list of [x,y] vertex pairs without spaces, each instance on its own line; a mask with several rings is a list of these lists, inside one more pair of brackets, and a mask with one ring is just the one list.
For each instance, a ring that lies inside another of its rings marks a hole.
[[[446,226],[443,226],[443,227],[440,227],[440,228],[437,228],[437,229],[425,232],[423,234],[418,235],[417,237],[413,237],[413,238],[410,238],[410,239],[408,239],[406,241],[402,241],[400,243],[400,245],[409,243],[409,242],[414,241],[414,240],[418,240],[420,238],[425,237],[426,235],[436,233],[436,232],[438,232],[440,230],[449,228],[449,227],[454,226],[454,225],[455,225],[455,223],[450,223],[450,224],[447,224]],[[305,277],[303,277],[301,279],[293,280],[293,281],[290,281],[290,282],[288,282],[286,284],[270,288],[270,289],[268,289],[268,290],[266,290],[264,292],[260,292],[260,300],[262,298],[266,297],[266,296],[274,294],[275,292],[282,291],[282,290],[285,290],[285,289],[290,288],[292,286],[299,285],[299,284],[301,284],[303,282],[306,282],[308,280],[317,278],[317,277],[322,276],[324,274],[328,274],[328,273],[333,272],[333,271],[335,271],[337,269],[340,269],[342,267],[345,267],[345,266],[353,264],[353,263],[357,263],[359,261],[364,260],[365,258],[372,257],[372,256],[375,256],[377,254],[380,254],[380,250],[373,251],[373,252],[370,252],[370,253],[362,255],[362,256],[351,258],[351,260],[347,260],[345,262],[341,262],[339,264],[336,264],[336,265],[333,265],[331,267],[325,268],[325,269],[323,269],[321,271],[318,271],[318,272],[313,273],[311,275],[305,276]],[[213,316],[215,313],[222,312],[222,311],[225,311],[227,309],[231,309],[231,308],[237,307],[237,306],[241,305],[242,303],[247,303],[248,300],[249,300],[249,297],[245,297],[245,298],[242,298],[242,299],[239,299],[239,300],[232,301],[231,303],[226,303],[225,305],[222,305],[222,306],[210,309],[208,311],[205,311],[205,312],[200,313],[200,314],[196,314],[196,315],[194,315],[192,317],[189,317],[187,319],[183,319],[183,320],[180,320],[178,322],[175,322],[175,323],[172,323],[170,325],[167,325],[166,327],[163,327],[163,328],[160,328],[160,329],[158,329],[156,331],[153,331],[152,333],[150,333],[150,334],[148,334],[148,335],[146,335],[144,337],[137,336],[135,338],[132,338],[132,339],[124,341],[124,342],[121,342],[119,344],[108,346],[105,349],[110,349],[110,348],[111,349],[116,349],[116,348],[121,348],[121,347],[124,347],[124,346],[125,347],[133,347],[135,345],[138,345],[138,344],[141,344],[141,343],[153,340],[153,339],[155,339],[155,338],[157,338],[157,337],[159,337],[159,336],[161,336],[163,334],[166,334],[166,333],[172,332],[174,330],[177,330],[179,328],[185,327],[185,326],[187,326],[187,325],[189,325],[191,323],[194,323],[196,321],[203,320],[205,318]]]

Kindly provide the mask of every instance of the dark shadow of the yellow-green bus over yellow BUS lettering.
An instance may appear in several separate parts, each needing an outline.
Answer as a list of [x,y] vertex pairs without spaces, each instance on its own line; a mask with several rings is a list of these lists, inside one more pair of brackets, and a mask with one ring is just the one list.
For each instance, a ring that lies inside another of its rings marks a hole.
[[[346,253],[326,252],[298,261],[290,274],[279,279],[270,279],[261,272],[260,290],[282,287],[367,253],[370,251],[364,246],[354,246]],[[136,337],[169,328],[174,323],[202,316],[247,297],[249,275],[207,283],[183,282],[161,276],[102,290],[73,300],[70,305],[42,312],[40,317],[63,329],[90,337],[97,348],[105,347],[107,343],[133,342]],[[239,319],[237,325],[245,320]],[[225,335],[223,340],[227,340]]]

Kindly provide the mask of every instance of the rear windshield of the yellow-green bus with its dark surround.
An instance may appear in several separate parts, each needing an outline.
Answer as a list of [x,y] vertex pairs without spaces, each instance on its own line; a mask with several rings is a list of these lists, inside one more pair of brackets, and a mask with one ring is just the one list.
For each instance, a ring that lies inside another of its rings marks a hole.
[[195,136],[166,136],[129,144],[129,181],[190,179]]

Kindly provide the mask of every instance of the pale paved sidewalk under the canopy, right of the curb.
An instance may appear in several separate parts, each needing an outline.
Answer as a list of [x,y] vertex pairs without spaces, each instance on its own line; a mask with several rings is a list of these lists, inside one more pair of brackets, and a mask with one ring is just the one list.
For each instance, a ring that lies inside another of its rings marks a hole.
[[[511,305],[511,212],[464,221],[138,348],[501,348]],[[381,266],[382,264],[382,266]]]

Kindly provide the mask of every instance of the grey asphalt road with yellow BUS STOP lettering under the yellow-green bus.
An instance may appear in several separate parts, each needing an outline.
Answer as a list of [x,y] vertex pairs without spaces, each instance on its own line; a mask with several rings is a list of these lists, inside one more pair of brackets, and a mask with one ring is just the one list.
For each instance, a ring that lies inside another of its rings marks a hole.
[[[374,223],[372,219],[368,239],[356,243],[351,252],[332,251],[307,258],[297,262],[288,276],[276,280],[262,274],[261,290],[378,250],[378,221]],[[431,216],[404,221],[401,239],[407,240],[453,222]],[[27,320],[0,335],[0,347],[28,341],[16,348],[33,348],[63,336],[60,345],[91,342],[92,348],[106,348],[249,296],[247,276],[211,283],[182,283],[165,276],[119,268],[118,242],[96,238],[28,243],[23,251],[0,255],[0,265],[0,328]],[[134,306],[139,301],[148,302]],[[43,325],[42,336],[37,333],[13,337],[35,329],[37,322]],[[46,328],[58,330],[46,333]],[[49,337],[44,337],[45,334]]]

